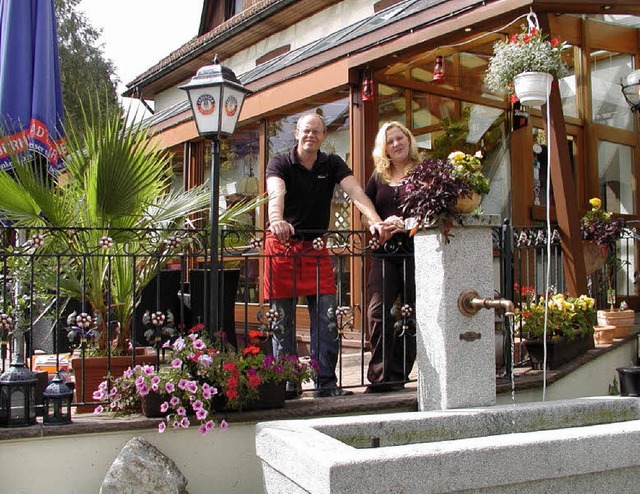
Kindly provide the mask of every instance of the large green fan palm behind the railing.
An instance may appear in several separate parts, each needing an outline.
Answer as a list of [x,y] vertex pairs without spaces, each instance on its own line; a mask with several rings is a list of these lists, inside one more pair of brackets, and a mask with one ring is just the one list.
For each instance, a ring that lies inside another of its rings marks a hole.
[[[64,261],[58,257],[56,269],[41,266],[38,282],[49,293],[59,290],[90,306],[97,316],[99,350],[112,341],[107,321],[115,319],[112,350],[122,353],[142,288],[189,248],[175,237],[176,229],[205,226],[190,218],[209,208],[210,194],[206,184],[171,191],[171,155],[154,144],[148,128],[127,125],[128,115],[123,118],[116,108],[90,110],[84,112],[82,133],[66,129],[67,173],[57,183],[33,166],[0,172],[0,214],[15,226],[50,229],[38,259],[51,264],[47,254],[69,255]],[[233,224],[261,201],[227,209],[220,225]],[[125,255],[132,252],[136,255]]]

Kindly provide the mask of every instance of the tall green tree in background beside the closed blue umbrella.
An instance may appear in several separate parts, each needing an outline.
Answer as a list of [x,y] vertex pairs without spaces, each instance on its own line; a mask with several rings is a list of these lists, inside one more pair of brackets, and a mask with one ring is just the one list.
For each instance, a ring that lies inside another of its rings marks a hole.
[[54,3],[65,119],[82,125],[82,108],[90,108],[89,102],[96,97],[110,105],[118,104],[116,68],[105,59],[102,45],[98,45],[100,30],[77,12],[80,0]]

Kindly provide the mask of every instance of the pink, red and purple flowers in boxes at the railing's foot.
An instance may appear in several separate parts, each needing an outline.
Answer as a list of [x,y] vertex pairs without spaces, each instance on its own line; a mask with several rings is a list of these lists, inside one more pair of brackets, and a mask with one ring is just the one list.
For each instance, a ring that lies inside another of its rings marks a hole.
[[[160,408],[146,410],[147,416],[166,416],[159,432],[187,428],[195,418],[205,435],[215,427],[215,412],[283,406],[284,393],[279,394],[282,400],[274,400],[273,393],[284,390],[287,381],[302,383],[315,375],[314,362],[262,353],[256,344],[260,331],[250,332],[251,344],[240,353],[212,345],[204,333],[202,325],[195,326],[187,336],[167,343],[173,351],[168,367],[130,367],[110,385],[102,382],[93,398],[108,402],[107,410],[117,414],[137,413],[141,402],[148,404],[151,398]],[[102,405],[96,408],[96,413],[104,411]],[[226,427],[226,422],[220,426]]]

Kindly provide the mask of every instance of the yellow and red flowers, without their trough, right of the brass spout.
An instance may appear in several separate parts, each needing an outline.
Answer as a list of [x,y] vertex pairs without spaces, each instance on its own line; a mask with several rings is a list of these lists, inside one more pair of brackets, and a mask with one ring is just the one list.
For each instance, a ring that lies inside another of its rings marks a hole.
[[521,330],[527,339],[541,340],[544,335],[545,307],[547,308],[547,338],[565,337],[574,340],[576,337],[593,334],[596,324],[595,300],[586,295],[567,297],[562,293],[544,297],[536,301],[530,295],[522,302],[518,310]]

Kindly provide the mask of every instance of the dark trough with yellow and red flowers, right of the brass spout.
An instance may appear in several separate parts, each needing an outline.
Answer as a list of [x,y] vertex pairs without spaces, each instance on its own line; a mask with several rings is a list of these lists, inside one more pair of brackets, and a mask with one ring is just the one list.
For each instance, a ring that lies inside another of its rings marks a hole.
[[517,309],[520,331],[534,369],[543,362],[545,319],[547,367],[556,369],[594,347],[595,300],[562,293],[528,296]]

